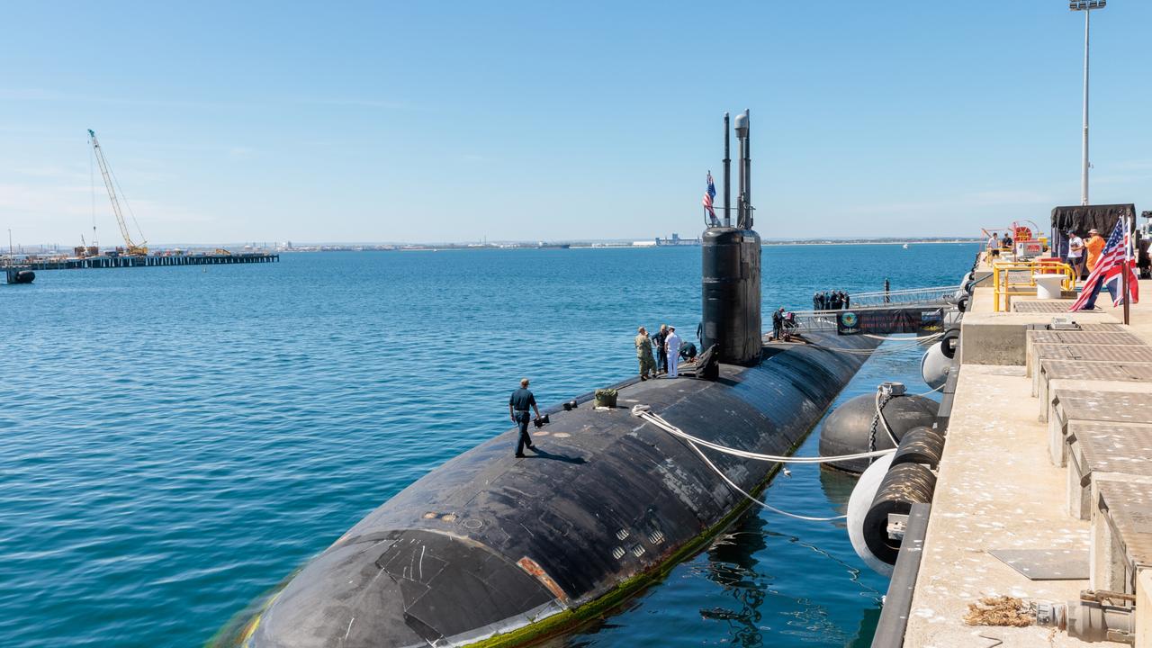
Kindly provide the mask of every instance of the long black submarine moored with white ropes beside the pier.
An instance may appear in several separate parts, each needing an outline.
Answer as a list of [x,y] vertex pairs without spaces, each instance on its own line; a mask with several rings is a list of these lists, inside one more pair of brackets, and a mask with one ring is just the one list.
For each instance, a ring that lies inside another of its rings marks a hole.
[[725,114],[723,219],[712,217],[702,235],[705,352],[695,376],[626,380],[615,407],[593,407],[585,394],[544,408],[551,422],[535,455],[513,457],[510,429],[447,461],[369,513],[218,645],[531,643],[608,612],[751,505],[736,489],[761,492],[779,464],[697,451],[632,408],[714,444],[788,454],[879,341],[764,339],[748,111],[734,121],[736,221]]

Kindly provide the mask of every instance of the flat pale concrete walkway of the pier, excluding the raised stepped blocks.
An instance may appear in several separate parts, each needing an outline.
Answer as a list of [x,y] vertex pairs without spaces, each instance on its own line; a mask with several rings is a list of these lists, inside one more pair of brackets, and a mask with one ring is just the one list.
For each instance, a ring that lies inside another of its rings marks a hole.
[[[1144,291],[1152,291],[1152,280],[1140,284]],[[1041,421],[1047,414],[1041,409],[1047,405],[1033,398],[1032,378],[1025,376],[1023,361],[1026,327],[1048,324],[1053,315],[1067,314],[1071,300],[1016,297],[1013,302],[1022,308],[993,312],[993,288],[980,285],[964,317],[948,442],[940,462],[919,573],[915,577],[903,646],[1093,645],[1048,627],[973,626],[964,621],[969,604],[982,597],[1008,595],[1066,602],[1076,601],[1081,590],[1093,588],[1086,578],[1091,522],[1069,513],[1071,468],[1058,467],[1049,458],[1049,428]],[[1131,306],[1131,326],[1119,325],[1121,311],[1113,309],[1107,293],[1098,304],[1104,307],[1102,311],[1075,315],[1077,322],[1089,323],[1085,331],[1123,330],[1152,342],[1152,304]],[[1086,366],[1086,371],[1094,370],[1091,362],[1079,364]],[[1152,393],[1152,382],[1131,379],[1120,389]],[[1052,389],[1056,390],[1059,383],[1053,379]],[[1104,382],[1102,376],[1067,384],[1078,389],[1117,389],[1116,382]],[[990,553],[998,550],[1069,551],[1060,553],[1067,558],[1061,568],[1075,568],[1074,575],[1084,578],[1030,580]],[[1107,589],[1099,585],[1094,588]],[[879,642],[873,646],[892,645],[899,646]]]

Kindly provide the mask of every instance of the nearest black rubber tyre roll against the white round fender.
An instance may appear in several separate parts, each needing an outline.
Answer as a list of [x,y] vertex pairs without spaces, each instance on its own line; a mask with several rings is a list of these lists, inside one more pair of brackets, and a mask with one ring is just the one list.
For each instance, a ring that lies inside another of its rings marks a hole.
[[864,543],[872,556],[888,565],[896,564],[901,541],[888,537],[888,515],[907,515],[912,510],[912,504],[932,502],[934,490],[935,475],[926,466],[900,464],[888,469],[861,528]]

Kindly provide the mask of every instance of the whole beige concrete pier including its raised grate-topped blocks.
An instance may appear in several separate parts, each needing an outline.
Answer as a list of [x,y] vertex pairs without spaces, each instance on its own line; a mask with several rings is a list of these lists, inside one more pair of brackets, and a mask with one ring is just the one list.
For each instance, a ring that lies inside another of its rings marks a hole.
[[[1070,299],[1020,295],[1011,311],[994,312],[986,284],[962,324],[947,444],[902,645],[1120,646],[1051,627],[964,620],[982,597],[1064,603],[1082,590],[1113,589],[1136,596],[1144,610],[1135,615],[1136,646],[1149,646],[1152,606],[1143,587],[1152,573],[1142,571],[1142,551],[1152,547],[1152,497],[1140,498],[1152,492],[1152,415],[1144,407],[1152,404],[1152,306],[1134,304],[1128,326],[1107,292],[1094,312],[1069,314]],[[1140,284],[1152,294],[1152,281]],[[1071,315],[1082,330],[1048,331],[1055,315]],[[1061,398],[1075,407],[1063,412]],[[1066,466],[1054,460],[1061,455]],[[1016,550],[1054,557],[1060,579],[1033,580],[1018,570],[1026,565],[1014,568],[993,555]]]

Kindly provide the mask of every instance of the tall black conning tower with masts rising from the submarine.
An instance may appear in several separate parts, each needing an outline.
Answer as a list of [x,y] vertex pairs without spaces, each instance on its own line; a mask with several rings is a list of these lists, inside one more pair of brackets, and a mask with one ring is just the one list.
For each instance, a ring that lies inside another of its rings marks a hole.
[[729,205],[730,165],[728,114],[723,115],[723,221],[715,217],[700,236],[703,299],[700,342],[717,345],[720,362],[760,362],[760,235],[752,229],[751,149],[749,113],[736,115],[740,142],[736,223]]

